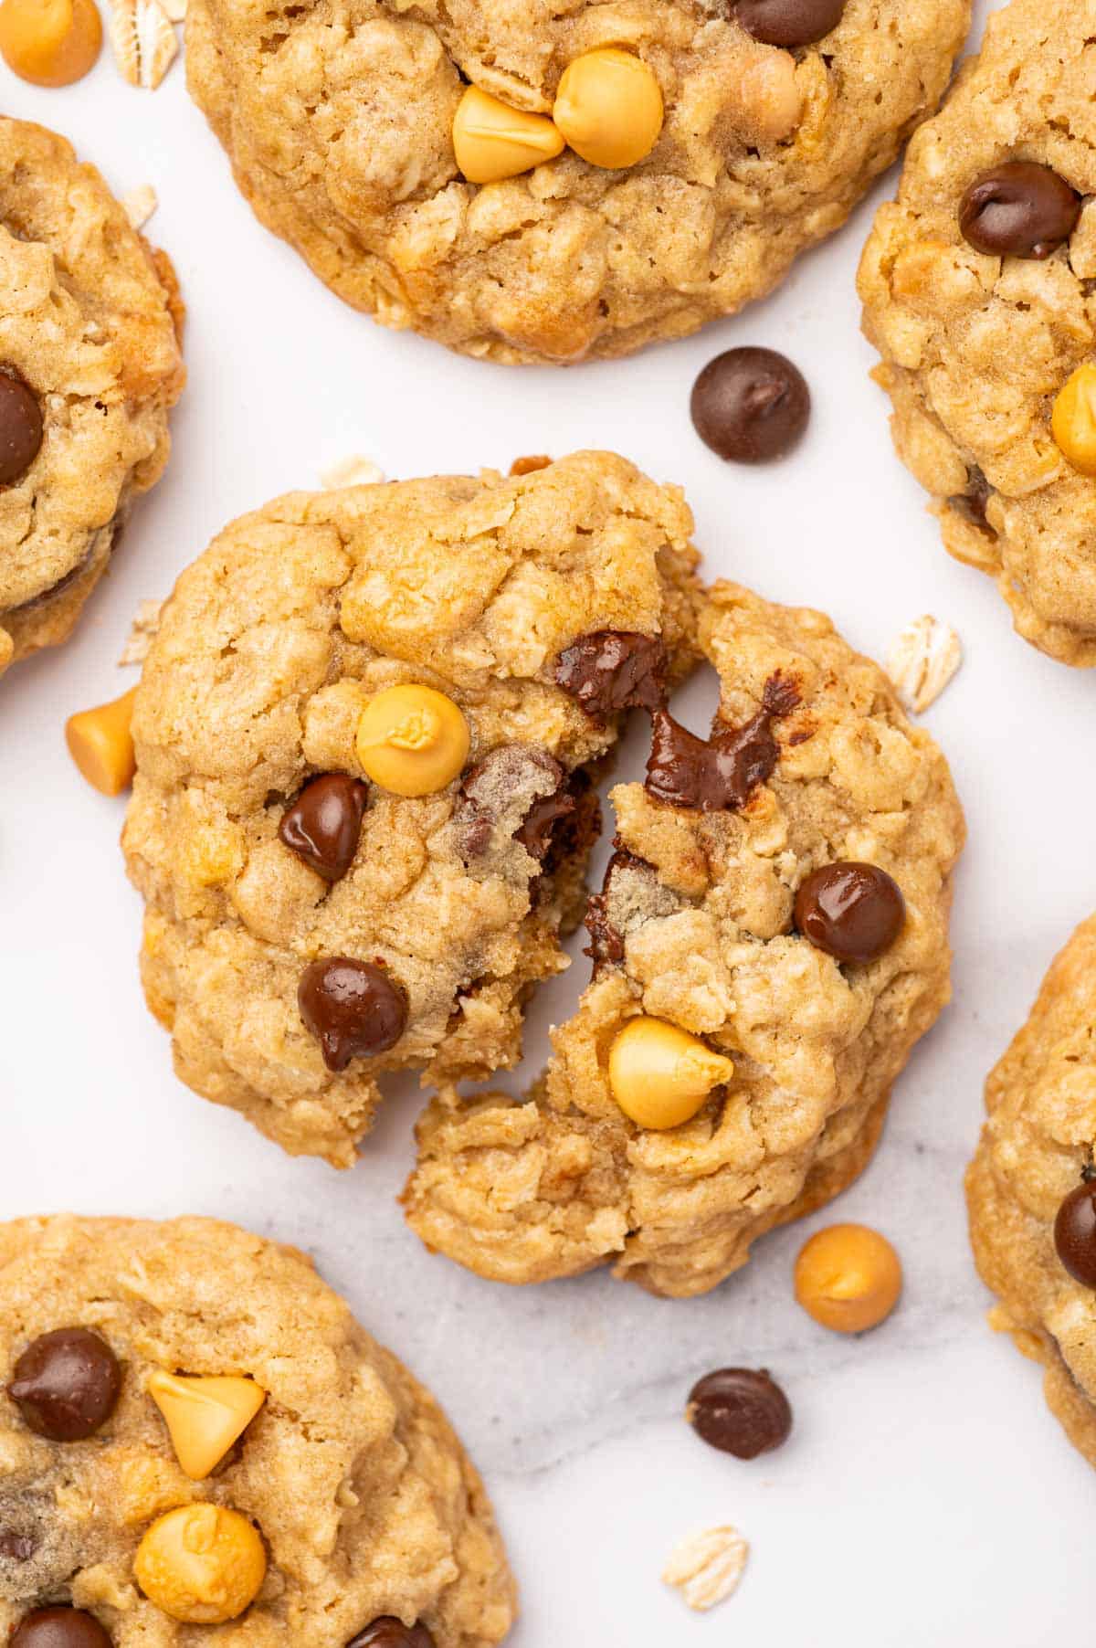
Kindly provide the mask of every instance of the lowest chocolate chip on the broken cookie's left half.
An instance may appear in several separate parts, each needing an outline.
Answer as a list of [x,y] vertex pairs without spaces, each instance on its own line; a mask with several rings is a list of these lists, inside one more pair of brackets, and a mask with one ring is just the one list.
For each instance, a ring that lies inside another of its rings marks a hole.
[[297,990],[300,1017],[328,1070],[396,1046],[407,1023],[407,997],[382,967],[351,956],[313,961]]

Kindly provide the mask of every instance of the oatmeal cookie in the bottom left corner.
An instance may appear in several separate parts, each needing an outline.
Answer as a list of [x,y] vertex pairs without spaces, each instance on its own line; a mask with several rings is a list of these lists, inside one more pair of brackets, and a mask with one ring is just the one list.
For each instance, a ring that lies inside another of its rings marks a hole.
[[0,1224],[13,1648],[491,1648],[514,1585],[433,1398],[293,1248]]

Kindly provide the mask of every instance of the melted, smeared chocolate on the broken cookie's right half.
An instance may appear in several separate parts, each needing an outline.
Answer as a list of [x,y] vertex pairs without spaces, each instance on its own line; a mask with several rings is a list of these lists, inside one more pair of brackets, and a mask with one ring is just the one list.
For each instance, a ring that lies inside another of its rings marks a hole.
[[700,812],[743,808],[780,760],[773,722],[789,715],[798,702],[794,682],[773,676],[765,682],[758,714],[745,727],[714,732],[707,742],[659,710],[651,727],[648,793]]

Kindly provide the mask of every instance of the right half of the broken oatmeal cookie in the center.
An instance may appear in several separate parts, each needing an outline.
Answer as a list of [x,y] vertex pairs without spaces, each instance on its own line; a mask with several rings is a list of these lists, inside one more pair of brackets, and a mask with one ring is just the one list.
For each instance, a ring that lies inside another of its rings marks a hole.
[[949,997],[936,745],[821,613],[717,583],[699,639],[712,735],[656,710],[646,783],[611,793],[593,977],[546,1076],[419,1126],[407,1218],[480,1276],[705,1292],[865,1167]]

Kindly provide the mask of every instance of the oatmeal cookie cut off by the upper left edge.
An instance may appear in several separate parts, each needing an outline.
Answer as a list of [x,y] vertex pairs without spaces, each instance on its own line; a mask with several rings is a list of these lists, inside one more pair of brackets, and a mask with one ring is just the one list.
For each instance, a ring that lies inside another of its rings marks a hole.
[[94,166],[0,117],[0,674],[64,641],[168,458],[183,305]]

